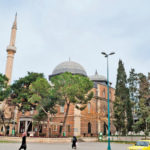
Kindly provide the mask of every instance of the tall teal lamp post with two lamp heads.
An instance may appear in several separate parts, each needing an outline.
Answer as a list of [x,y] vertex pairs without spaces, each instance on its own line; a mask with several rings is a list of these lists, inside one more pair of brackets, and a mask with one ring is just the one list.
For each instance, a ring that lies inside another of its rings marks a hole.
[[107,150],[111,150],[111,146],[110,146],[110,112],[109,112],[109,63],[108,63],[108,57],[110,55],[115,54],[114,52],[106,54],[105,52],[101,52],[102,55],[104,55],[107,58],[107,98],[108,98],[108,102],[107,102],[107,106],[108,106],[108,147]]

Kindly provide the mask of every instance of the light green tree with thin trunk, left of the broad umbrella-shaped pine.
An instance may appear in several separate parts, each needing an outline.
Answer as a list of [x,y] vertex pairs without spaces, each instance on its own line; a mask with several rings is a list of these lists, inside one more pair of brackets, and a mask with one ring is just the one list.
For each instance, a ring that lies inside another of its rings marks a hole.
[[[49,137],[50,118],[57,112],[55,105],[57,96],[53,94],[53,88],[45,78],[38,78],[30,86],[32,96],[29,101],[36,106],[39,116],[47,116],[47,137]],[[37,116],[37,115],[36,115]],[[38,117],[38,116],[37,116]]]

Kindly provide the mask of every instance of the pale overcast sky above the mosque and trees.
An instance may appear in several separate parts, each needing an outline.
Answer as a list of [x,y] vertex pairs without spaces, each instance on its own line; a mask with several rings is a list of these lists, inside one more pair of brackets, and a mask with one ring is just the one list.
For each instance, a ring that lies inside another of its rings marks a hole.
[[149,0],[0,0],[0,73],[5,73],[15,13],[17,52],[12,82],[28,71],[47,78],[63,61],[78,62],[88,75],[106,76],[115,86],[118,61],[147,75],[150,66]]

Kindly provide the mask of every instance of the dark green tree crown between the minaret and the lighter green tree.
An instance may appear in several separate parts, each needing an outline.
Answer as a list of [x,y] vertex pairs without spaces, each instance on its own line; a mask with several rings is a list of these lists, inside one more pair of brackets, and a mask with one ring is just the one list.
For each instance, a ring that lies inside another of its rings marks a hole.
[[19,108],[20,111],[29,111],[34,107],[34,105],[28,101],[32,95],[29,87],[39,77],[43,77],[43,74],[28,72],[27,76],[16,80],[11,86],[12,102]]

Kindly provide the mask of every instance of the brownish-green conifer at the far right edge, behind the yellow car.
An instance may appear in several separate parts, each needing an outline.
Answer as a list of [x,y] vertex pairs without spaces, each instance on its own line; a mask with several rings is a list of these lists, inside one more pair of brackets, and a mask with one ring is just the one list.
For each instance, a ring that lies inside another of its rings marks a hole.
[[144,131],[145,135],[150,131],[150,82],[149,77],[139,73],[139,106],[137,110],[138,121],[134,130]]

